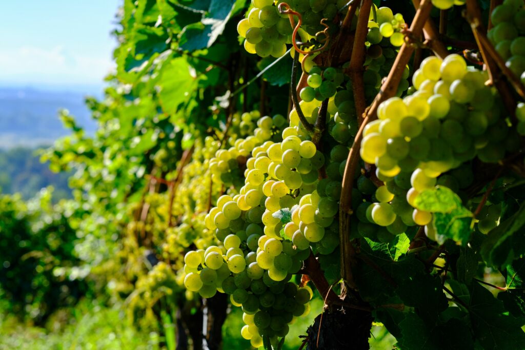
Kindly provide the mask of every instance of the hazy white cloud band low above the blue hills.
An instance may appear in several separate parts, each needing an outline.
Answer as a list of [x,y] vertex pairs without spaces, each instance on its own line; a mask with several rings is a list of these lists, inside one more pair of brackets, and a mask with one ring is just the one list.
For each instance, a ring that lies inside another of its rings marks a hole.
[[109,57],[79,55],[62,46],[23,46],[0,50],[0,81],[18,83],[101,83],[114,69]]

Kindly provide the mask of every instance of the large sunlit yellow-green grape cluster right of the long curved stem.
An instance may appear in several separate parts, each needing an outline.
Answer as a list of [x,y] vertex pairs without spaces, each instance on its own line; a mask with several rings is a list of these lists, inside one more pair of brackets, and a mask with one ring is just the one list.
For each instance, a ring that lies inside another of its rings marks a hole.
[[[519,136],[507,125],[486,79],[485,72],[467,68],[458,55],[443,61],[428,57],[413,76],[418,91],[380,105],[379,119],[365,127],[361,156],[376,165],[384,186],[375,190],[376,203],[358,209],[362,222],[386,227],[391,234],[428,225],[432,213],[415,208],[419,193],[436,185],[457,192],[470,184],[458,179],[472,178],[465,175],[464,163],[476,156],[498,162],[518,149]],[[372,192],[369,185],[359,189]]]

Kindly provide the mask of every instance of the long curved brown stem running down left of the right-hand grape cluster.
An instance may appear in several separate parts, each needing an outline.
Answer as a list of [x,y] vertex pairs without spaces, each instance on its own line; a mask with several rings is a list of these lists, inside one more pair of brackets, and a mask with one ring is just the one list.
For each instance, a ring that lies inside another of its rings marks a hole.
[[[423,0],[417,9],[414,17],[414,22],[410,27],[410,31],[414,35],[419,35],[430,15],[432,9],[432,2],[430,0]],[[363,138],[363,130],[369,121],[377,119],[377,108],[379,104],[392,96],[395,96],[397,87],[401,81],[403,71],[414,52],[414,46],[405,40],[401,46],[399,53],[394,61],[394,65],[388,73],[388,77],[382,84],[379,94],[374,99],[371,107],[367,110],[366,116],[361,123],[358,133],[355,135],[355,140],[348,154],[346,166],[344,169],[341,197],[339,204],[339,239],[341,249],[341,273],[343,280],[349,287],[353,287],[352,278],[352,259],[354,259],[354,247],[348,238],[350,231],[350,215],[352,214],[352,187],[354,182],[355,169],[359,163],[359,150],[361,147],[361,140]]]

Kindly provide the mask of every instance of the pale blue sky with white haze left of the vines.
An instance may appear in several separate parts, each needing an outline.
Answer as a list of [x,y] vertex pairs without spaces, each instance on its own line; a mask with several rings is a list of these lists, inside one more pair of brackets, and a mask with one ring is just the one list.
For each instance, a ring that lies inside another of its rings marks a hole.
[[102,86],[121,0],[0,1],[2,86]]

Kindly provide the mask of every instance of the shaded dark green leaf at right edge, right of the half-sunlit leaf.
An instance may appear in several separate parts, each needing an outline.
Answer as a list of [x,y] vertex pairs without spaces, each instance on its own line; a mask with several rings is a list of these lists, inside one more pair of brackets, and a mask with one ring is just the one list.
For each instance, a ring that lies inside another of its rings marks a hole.
[[489,232],[481,245],[481,257],[488,266],[504,269],[525,254],[525,203],[518,211]]

